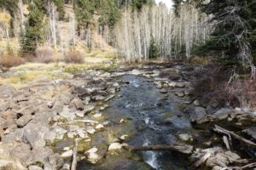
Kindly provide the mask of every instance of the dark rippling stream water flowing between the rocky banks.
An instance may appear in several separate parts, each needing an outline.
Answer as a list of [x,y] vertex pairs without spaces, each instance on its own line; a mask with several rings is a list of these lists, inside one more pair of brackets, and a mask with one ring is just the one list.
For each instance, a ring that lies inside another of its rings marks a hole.
[[[147,146],[153,144],[175,144],[178,133],[193,133],[189,117],[183,113],[184,100],[169,92],[160,94],[153,82],[144,77],[127,75],[130,82],[120,89],[121,97],[113,99],[103,116],[113,125],[92,139],[92,145],[106,149],[113,138],[129,135],[128,144]],[[120,120],[124,123],[119,123]],[[165,120],[168,119],[168,122]],[[131,154],[123,151],[119,155],[108,155],[96,165],[82,161],[78,169],[188,169],[182,156],[171,151],[140,151]]]

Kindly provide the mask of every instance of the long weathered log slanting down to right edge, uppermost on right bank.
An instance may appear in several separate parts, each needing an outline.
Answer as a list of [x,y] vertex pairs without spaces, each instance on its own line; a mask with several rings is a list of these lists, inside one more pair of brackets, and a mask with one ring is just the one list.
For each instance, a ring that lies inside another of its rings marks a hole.
[[233,133],[229,130],[226,130],[224,129],[223,127],[219,127],[218,125],[215,125],[215,128],[213,129],[215,132],[218,132],[218,133],[224,133],[226,135],[228,135],[229,137],[233,137],[235,139],[238,139],[240,140],[241,142],[253,147],[253,148],[256,148],[256,144],[250,140],[247,140],[247,139],[244,139],[242,138],[241,136],[237,135],[236,133]]

